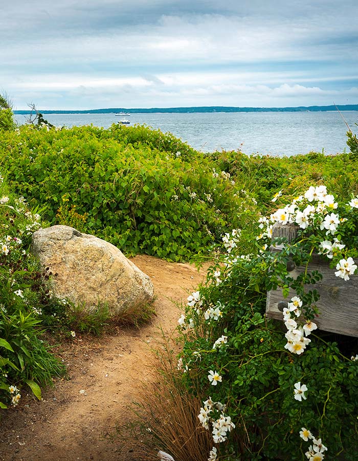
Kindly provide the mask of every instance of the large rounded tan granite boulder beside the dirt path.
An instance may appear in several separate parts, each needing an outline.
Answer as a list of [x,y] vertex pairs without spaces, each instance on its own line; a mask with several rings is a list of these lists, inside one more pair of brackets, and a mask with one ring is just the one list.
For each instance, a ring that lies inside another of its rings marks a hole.
[[52,272],[53,294],[84,304],[89,311],[106,303],[116,316],[138,311],[153,299],[149,277],[116,246],[93,235],[62,225],[39,229],[31,250]]

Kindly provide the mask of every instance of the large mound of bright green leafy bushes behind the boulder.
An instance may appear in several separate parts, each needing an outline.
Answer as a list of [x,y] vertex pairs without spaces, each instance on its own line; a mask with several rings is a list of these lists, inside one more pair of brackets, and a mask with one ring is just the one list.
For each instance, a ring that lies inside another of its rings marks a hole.
[[[86,216],[84,232],[127,255],[189,259],[207,252],[229,223],[250,232],[257,214],[240,183],[214,174],[210,159],[158,130],[28,126],[15,140],[4,137],[4,157],[9,149],[9,179],[31,205],[46,204],[46,219],[56,223],[57,212],[70,222],[75,209]],[[71,203],[63,204],[64,195]]]

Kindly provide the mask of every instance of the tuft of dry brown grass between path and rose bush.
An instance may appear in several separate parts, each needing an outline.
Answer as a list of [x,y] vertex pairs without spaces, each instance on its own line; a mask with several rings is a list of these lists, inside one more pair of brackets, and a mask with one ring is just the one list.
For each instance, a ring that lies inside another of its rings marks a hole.
[[156,373],[154,382],[144,384],[137,408],[133,409],[141,426],[141,438],[153,455],[159,450],[170,453],[175,461],[207,461],[213,439],[197,417],[202,399],[184,387],[176,362],[168,342],[156,351],[151,364]]

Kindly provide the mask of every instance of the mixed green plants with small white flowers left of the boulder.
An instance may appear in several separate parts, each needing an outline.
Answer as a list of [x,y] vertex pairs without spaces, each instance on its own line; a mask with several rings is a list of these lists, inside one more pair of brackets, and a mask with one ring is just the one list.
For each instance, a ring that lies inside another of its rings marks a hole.
[[[41,399],[39,386],[52,384],[64,368],[41,338],[42,308],[51,302],[46,275],[28,253],[39,216],[23,198],[0,183],[0,407],[16,406],[27,385]],[[45,278],[43,278],[43,276]],[[43,281],[44,280],[44,281]]]

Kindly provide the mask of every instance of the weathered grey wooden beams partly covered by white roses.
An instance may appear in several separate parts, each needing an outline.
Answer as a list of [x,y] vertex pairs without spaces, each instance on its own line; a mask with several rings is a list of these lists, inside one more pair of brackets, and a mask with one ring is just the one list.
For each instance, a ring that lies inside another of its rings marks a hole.
[[[287,228],[287,226],[282,227]],[[283,232],[287,234],[287,229]],[[288,232],[292,233],[292,230],[289,229]],[[272,250],[278,251],[279,248],[272,248]],[[305,267],[296,267],[290,274],[296,278],[304,270]],[[320,315],[315,318],[317,326],[324,331],[358,337],[358,275],[350,276],[350,280],[347,281],[336,277],[335,269],[331,269],[329,264],[318,255],[314,255],[314,259],[308,265],[308,271],[312,270],[318,270],[323,276],[318,283],[306,287],[307,291],[317,289],[320,294],[320,299],[316,303],[320,310]],[[278,303],[289,302],[294,296],[297,294],[292,289],[289,290],[286,299],[282,296],[282,289],[268,292],[266,316],[282,321],[283,315],[277,307]]]

